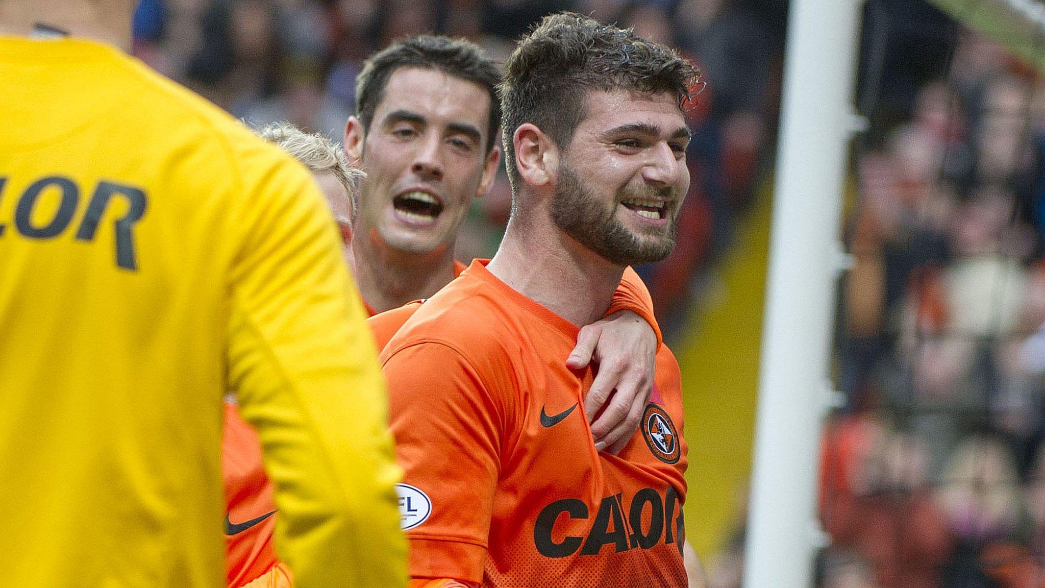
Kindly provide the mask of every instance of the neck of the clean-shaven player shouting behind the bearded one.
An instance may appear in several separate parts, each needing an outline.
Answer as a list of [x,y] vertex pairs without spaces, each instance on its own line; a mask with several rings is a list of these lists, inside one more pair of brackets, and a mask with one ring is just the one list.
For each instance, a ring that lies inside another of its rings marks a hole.
[[419,255],[392,250],[376,239],[353,239],[352,261],[359,294],[377,312],[427,298],[454,279],[451,246]]

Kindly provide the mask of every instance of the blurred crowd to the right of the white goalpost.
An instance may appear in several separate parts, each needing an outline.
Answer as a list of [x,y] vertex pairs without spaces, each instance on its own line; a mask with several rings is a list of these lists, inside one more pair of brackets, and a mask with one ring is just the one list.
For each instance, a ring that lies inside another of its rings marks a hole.
[[[853,156],[825,588],[1045,586],[1045,83],[945,28],[946,59],[899,89],[864,55],[861,95],[886,90]],[[739,532],[714,588],[740,586],[741,555]]]

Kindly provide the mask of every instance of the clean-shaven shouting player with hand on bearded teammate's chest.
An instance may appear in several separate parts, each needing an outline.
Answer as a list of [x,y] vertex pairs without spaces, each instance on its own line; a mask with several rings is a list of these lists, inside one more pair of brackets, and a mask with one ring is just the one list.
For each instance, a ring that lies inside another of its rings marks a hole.
[[[440,36],[397,41],[364,65],[345,151],[366,173],[350,263],[372,314],[427,298],[464,270],[454,258],[458,231],[472,200],[489,191],[501,156],[500,80],[480,47]],[[571,354],[576,367],[593,356],[600,364],[586,401],[588,413],[598,414],[591,433],[599,449],[619,449],[614,444],[635,431],[659,344],[645,287],[630,270],[627,277],[622,303],[584,327]],[[646,321],[629,311],[612,314],[624,308],[647,308]],[[409,310],[371,321],[378,348],[402,314]]]

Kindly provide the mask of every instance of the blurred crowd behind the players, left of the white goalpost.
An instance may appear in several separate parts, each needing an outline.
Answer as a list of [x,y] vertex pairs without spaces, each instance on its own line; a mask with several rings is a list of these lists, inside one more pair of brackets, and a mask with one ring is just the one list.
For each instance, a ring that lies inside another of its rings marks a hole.
[[[363,61],[419,32],[465,37],[503,61],[545,14],[573,9],[634,26],[703,72],[689,109],[691,193],[669,259],[640,268],[666,336],[677,335],[709,263],[728,244],[771,160],[786,0],[141,0],[135,53],[249,125],[289,120],[341,140]],[[475,202],[462,259],[496,249],[507,176]]]

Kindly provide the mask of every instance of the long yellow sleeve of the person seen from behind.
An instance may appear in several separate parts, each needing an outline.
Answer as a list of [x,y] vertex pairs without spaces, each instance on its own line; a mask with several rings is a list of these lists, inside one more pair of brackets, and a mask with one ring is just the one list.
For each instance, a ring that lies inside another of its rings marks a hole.
[[266,157],[243,176],[228,369],[276,488],[277,551],[298,588],[404,586],[401,471],[362,301],[307,172]]

